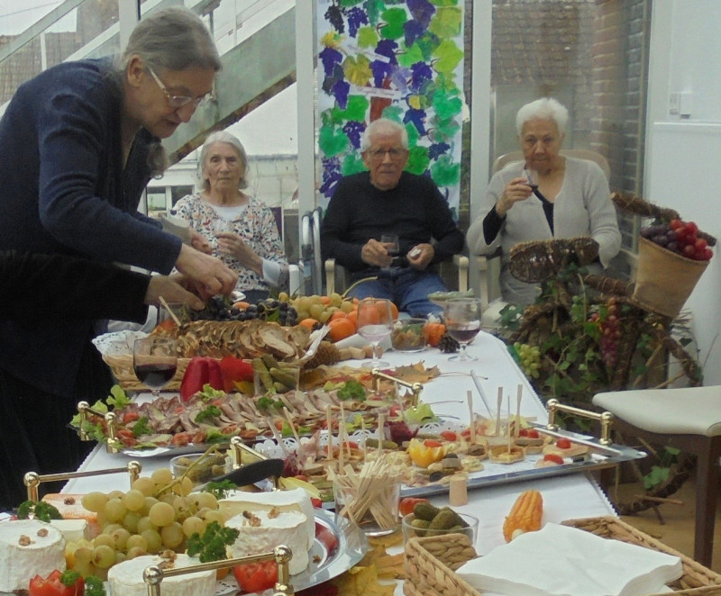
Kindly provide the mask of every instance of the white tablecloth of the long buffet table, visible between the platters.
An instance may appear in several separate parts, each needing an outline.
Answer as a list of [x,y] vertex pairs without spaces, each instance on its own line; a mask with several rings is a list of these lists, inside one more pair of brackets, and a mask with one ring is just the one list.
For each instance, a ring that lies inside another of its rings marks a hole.
[[[470,391],[474,411],[480,416],[495,418],[499,386],[504,388],[505,395],[510,396],[511,411],[515,414],[516,392],[520,384],[523,387],[521,414],[525,417],[534,417],[541,422],[547,420],[542,402],[534,393],[525,375],[516,366],[516,362],[508,354],[503,342],[481,332],[468,349],[471,355],[478,357],[477,361],[468,364],[449,361],[449,355],[443,354],[435,348],[428,348],[417,353],[388,351],[384,354],[383,359],[387,360],[391,366],[412,365],[420,361],[423,361],[426,367],[438,366],[442,375],[424,384],[424,390],[421,393],[421,401],[434,404],[434,412],[438,416],[455,417],[461,423],[468,424],[469,409],[466,395]],[[362,366],[363,363],[350,361],[343,364]],[[479,383],[487,396],[490,412],[480,398],[479,391],[470,375],[471,370],[475,371],[479,377]],[[507,413],[506,403],[504,401],[502,411],[504,416]],[[172,455],[171,452],[168,452],[163,456],[140,459],[142,473],[150,474],[157,468],[168,467],[169,458]],[[138,458],[123,454],[108,454],[105,446],[97,446],[80,466],[79,471],[121,467],[127,465],[132,459]],[[107,492],[114,489],[127,490],[127,487],[127,474],[110,474],[72,479],[65,485],[63,492],[85,493],[94,490]],[[616,515],[598,484],[588,474],[582,472],[480,487],[469,491],[467,505],[456,508],[479,518],[476,550],[480,555],[504,544],[501,532],[503,520],[518,494],[529,488],[543,493],[544,521],[560,522],[564,519]],[[438,506],[447,505],[448,497],[445,494],[434,495],[431,497],[431,501]],[[397,594],[401,593],[402,587],[399,586]]]

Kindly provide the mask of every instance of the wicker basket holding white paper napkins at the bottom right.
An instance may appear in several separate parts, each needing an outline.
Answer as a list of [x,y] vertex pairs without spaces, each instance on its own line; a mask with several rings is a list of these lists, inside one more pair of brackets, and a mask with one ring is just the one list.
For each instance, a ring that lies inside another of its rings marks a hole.
[[[721,595],[721,575],[712,572],[686,555],[665,546],[624,521],[614,517],[569,519],[565,526],[580,528],[600,537],[615,538],[680,557],[683,575],[669,584],[683,596]],[[481,596],[481,593],[454,573],[476,556],[468,537],[450,534],[439,537],[411,538],[406,543],[406,582],[403,593],[409,596]],[[650,594],[649,596],[663,596]]]

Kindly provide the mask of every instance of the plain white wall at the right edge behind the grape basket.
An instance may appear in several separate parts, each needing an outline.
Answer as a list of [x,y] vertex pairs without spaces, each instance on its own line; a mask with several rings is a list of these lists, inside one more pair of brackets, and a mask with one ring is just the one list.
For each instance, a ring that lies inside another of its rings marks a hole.
[[[653,3],[644,198],[721,239],[721,2]],[[683,93],[681,112],[671,113]],[[689,101],[690,100],[690,101]],[[721,384],[721,247],[686,307],[704,384]]]

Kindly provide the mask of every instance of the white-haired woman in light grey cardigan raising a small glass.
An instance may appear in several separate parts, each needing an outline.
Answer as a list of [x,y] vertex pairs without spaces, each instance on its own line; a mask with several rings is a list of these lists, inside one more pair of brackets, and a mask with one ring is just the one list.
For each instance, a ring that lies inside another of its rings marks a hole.
[[524,160],[509,163],[491,178],[480,217],[468,230],[472,254],[501,248],[501,293],[508,303],[533,303],[539,293],[537,286],[517,280],[508,270],[508,254],[519,242],[591,237],[598,242],[600,264],[589,268],[596,271],[621,248],[606,175],[595,162],[560,153],[568,119],[568,110],[551,98],[518,110]]

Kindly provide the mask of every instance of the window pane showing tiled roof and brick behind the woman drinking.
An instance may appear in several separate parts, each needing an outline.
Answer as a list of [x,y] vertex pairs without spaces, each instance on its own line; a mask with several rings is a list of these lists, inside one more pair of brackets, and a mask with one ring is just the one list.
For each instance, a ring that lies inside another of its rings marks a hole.
[[496,158],[518,149],[516,112],[552,96],[570,113],[565,149],[593,149],[611,188],[640,194],[648,0],[507,0],[493,5]]

